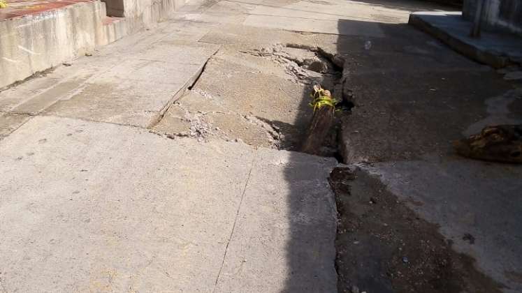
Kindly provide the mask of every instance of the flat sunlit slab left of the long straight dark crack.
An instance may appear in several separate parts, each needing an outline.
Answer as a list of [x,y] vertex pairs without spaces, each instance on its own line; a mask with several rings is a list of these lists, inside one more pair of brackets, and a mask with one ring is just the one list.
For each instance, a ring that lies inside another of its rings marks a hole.
[[161,42],[92,77],[45,114],[148,127],[200,75],[217,45]]

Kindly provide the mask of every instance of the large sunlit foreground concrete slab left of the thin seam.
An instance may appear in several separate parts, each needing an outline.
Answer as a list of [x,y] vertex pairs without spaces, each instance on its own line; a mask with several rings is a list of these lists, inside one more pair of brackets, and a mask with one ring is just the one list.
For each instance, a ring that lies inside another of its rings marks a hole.
[[54,117],[0,149],[6,290],[210,291],[252,151]]

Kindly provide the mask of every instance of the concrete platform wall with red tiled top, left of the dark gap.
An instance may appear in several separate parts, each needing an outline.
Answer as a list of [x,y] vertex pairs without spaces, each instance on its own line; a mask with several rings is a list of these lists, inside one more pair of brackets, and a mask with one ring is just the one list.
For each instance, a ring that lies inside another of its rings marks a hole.
[[108,35],[100,1],[17,1],[0,13],[0,89],[124,34]]

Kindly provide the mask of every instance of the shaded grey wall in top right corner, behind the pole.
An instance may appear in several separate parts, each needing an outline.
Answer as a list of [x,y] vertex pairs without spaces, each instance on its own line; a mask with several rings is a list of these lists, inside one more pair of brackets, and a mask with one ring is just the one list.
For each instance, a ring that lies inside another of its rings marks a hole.
[[[521,0],[484,0],[482,27],[489,31],[505,31],[522,36]],[[463,17],[474,20],[478,0],[465,0]]]

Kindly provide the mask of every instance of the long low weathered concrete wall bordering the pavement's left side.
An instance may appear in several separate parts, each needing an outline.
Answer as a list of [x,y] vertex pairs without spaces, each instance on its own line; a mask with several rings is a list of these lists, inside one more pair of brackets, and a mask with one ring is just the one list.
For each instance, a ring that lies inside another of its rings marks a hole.
[[89,1],[0,20],[0,90],[166,19],[186,2],[117,1],[122,1],[124,18],[107,17],[106,3]]

